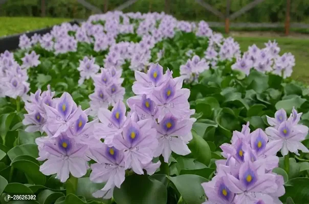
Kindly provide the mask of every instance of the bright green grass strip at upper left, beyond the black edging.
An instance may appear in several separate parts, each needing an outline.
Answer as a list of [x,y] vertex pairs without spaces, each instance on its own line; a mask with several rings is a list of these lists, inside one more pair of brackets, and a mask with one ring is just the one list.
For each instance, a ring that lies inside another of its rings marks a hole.
[[0,37],[43,29],[70,20],[68,18],[0,17]]

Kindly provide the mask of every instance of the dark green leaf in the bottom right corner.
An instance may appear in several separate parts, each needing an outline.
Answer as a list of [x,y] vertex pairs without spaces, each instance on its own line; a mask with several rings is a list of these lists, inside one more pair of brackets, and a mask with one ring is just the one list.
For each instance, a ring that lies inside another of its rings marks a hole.
[[285,194],[280,197],[281,201],[291,197],[296,204],[309,203],[309,178],[291,179],[285,185]]

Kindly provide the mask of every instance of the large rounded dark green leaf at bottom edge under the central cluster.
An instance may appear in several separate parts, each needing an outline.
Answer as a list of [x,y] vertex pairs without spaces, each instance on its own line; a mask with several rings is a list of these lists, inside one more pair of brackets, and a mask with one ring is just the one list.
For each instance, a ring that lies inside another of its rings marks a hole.
[[114,199],[117,204],[165,204],[167,191],[163,183],[147,175],[130,175],[120,189],[115,188]]

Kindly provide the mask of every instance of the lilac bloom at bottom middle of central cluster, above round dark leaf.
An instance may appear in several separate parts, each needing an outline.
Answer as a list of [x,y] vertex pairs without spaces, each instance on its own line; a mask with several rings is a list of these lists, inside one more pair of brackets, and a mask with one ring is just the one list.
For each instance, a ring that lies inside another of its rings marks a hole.
[[143,166],[151,162],[158,147],[157,131],[151,126],[150,119],[135,122],[129,118],[122,134],[114,137],[113,145],[124,151],[125,169],[131,168],[137,174],[144,174]]

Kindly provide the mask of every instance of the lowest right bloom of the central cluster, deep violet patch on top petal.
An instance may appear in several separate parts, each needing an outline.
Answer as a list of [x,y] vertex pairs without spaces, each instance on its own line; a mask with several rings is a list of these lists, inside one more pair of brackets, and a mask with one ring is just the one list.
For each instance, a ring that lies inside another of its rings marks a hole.
[[166,114],[160,124],[155,125],[159,146],[154,156],[162,154],[164,162],[168,163],[172,151],[178,155],[190,154],[187,144],[192,139],[191,129],[195,120],[195,118],[179,119],[171,113]]

